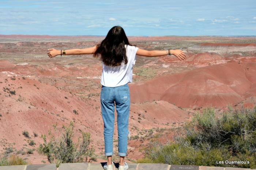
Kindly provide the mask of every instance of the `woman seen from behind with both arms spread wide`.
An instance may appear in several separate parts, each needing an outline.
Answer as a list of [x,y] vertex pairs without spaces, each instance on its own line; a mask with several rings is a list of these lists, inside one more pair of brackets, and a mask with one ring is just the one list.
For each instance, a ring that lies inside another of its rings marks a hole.
[[127,170],[124,162],[127,154],[127,137],[129,135],[128,120],[130,110],[130,91],[128,83],[132,82],[132,68],[136,55],[156,57],[174,55],[185,60],[187,55],[181,50],[153,50],[147,51],[129,43],[124,29],[120,26],[112,27],[101,43],[94,47],[71,50],[48,49],[49,58],[57,55],[93,54],[102,61],[101,75],[101,114],[104,122],[105,155],[108,162],[103,167],[112,170],[113,134],[114,134],[114,108],[117,110],[118,155],[120,162],[118,169]]

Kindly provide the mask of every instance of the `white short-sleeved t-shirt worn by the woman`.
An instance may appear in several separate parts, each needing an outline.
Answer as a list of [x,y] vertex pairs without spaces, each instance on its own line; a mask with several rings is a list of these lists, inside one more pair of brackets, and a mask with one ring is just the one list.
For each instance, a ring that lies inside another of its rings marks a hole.
[[106,66],[102,62],[101,84],[106,87],[117,87],[132,82],[132,67],[136,61],[136,52],[139,49],[136,46],[127,46],[126,55],[128,63],[120,66]]

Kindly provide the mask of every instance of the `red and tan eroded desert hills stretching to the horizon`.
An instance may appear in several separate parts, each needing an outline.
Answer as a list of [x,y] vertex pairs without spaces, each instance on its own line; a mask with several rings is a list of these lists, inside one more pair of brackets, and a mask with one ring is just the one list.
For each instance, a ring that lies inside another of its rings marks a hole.
[[[92,47],[104,36],[0,35],[0,152],[24,152],[30,163],[48,163],[36,151],[53,124],[73,121],[74,140],[91,134],[97,161],[104,155],[100,108],[102,63],[92,55],[50,59],[49,48]],[[177,129],[204,107],[256,104],[256,37],[128,36],[145,50],[181,49],[189,57],[137,56],[129,83],[131,110],[127,162],[143,158],[151,139],[172,141]],[[113,148],[117,157],[117,113]],[[23,135],[27,131],[29,137]],[[30,145],[31,141],[33,145]],[[33,150],[34,149],[34,150]],[[27,151],[32,153],[28,153]]]

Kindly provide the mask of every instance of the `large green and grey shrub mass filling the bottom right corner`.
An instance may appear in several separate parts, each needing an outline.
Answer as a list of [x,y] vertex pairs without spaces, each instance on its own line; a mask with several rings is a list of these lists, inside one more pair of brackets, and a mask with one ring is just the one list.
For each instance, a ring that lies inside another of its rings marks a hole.
[[[162,145],[151,140],[138,163],[229,166],[256,168],[256,107],[229,110],[216,116],[214,108],[203,109],[184,127],[174,142]],[[249,161],[218,164],[216,161]]]

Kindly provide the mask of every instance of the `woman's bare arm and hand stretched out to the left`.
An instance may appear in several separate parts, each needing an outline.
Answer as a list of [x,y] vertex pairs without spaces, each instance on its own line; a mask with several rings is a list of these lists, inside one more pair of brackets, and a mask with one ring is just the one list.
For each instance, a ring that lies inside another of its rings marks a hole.
[[[66,55],[80,55],[80,54],[94,54],[94,52],[96,51],[96,46],[94,47],[89,47],[89,48],[83,48],[83,49],[79,49],[79,48],[75,48],[75,49],[70,49],[70,50],[65,50]],[[60,55],[61,50],[56,50],[54,48],[48,49],[50,50],[47,54],[49,56],[49,58],[53,58],[57,55]],[[62,50],[63,52],[63,50]]]

